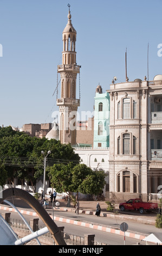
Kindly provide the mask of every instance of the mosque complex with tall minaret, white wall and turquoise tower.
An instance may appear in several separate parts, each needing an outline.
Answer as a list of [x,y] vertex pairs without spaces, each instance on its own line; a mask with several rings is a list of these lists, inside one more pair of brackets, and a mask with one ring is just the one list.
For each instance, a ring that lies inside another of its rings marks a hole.
[[[93,170],[104,170],[107,173],[105,192],[109,186],[109,127],[108,120],[103,113],[106,112],[107,107],[109,109],[109,94],[107,92],[103,94],[99,85],[96,88],[94,117],[89,118],[86,125],[80,122],[80,126],[77,126],[76,113],[77,107],[80,106],[80,99],[76,99],[76,78],[80,74],[81,66],[76,64],[76,30],[72,25],[71,18],[69,6],[68,23],[62,32],[62,65],[57,66],[57,72],[61,76],[61,97],[57,99],[60,121],[59,125],[54,123],[53,129],[47,133],[46,138],[59,139],[63,144],[70,143],[74,147],[75,153],[79,154],[81,163],[85,163]],[[100,101],[100,105],[102,102],[102,109],[98,108],[98,101]],[[109,115],[109,113],[107,114]],[[102,122],[103,125],[101,125]],[[98,123],[100,123],[99,134]]]

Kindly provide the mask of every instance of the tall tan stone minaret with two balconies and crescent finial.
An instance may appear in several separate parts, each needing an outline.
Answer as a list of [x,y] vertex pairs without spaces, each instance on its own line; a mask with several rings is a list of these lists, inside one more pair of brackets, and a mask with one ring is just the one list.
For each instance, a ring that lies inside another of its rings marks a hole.
[[60,111],[59,139],[61,143],[76,144],[76,113],[80,99],[76,99],[76,77],[80,66],[76,65],[76,31],[72,25],[70,5],[68,23],[62,33],[62,65],[57,66],[61,76],[61,99],[57,99]]

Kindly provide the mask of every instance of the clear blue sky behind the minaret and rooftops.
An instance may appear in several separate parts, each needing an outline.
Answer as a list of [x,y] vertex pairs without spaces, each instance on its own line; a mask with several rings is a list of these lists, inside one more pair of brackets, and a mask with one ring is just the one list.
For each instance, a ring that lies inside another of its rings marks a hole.
[[149,80],[162,74],[161,0],[0,0],[0,126],[54,120],[68,3],[81,65],[79,112],[93,111],[99,83],[105,92],[114,76],[125,82],[126,48],[129,81],[147,76],[148,43]]

